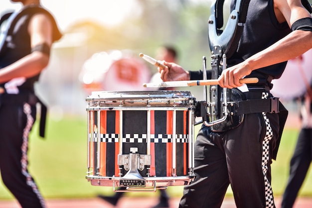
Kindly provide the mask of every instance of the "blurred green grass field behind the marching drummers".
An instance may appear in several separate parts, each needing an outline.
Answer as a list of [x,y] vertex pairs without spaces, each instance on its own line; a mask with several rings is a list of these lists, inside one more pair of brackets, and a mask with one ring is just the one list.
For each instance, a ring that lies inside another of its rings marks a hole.
[[[199,128],[195,126],[195,132]],[[29,144],[29,171],[35,178],[42,195],[52,198],[89,198],[97,194],[113,194],[112,187],[92,186],[85,179],[87,171],[87,121],[85,117],[66,117],[60,121],[47,120],[46,138],[38,135],[37,126]],[[276,196],[282,195],[289,172],[289,160],[295,148],[298,129],[286,129],[277,161],[272,164],[272,187]],[[3,159],[3,158],[1,158]],[[312,173],[305,181],[301,196],[312,196]],[[172,197],[181,196],[183,187],[168,187]],[[158,196],[155,193],[128,193],[132,196]],[[232,195],[228,190],[227,195]],[[0,199],[12,199],[0,184]]]

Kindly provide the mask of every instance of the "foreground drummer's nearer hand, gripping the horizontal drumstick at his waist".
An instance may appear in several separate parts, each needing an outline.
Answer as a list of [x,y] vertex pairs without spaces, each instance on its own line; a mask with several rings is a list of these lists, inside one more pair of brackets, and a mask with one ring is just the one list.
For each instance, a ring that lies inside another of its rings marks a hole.
[[239,82],[239,80],[247,75],[250,75],[251,72],[251,68],[242,62],[225,69],[220,75],[218,83],[221,88],[237,88],[243,85]]

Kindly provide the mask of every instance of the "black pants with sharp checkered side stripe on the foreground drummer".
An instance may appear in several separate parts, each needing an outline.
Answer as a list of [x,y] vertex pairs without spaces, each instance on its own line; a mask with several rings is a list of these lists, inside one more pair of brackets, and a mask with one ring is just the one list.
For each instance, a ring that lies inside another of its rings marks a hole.
[[279,115],[246,114],[236,128],[212,132],[203,126],[195,141],[195,180],[184,187],[180,208],[220,208],[229,184],[237,208],[274,208],[272,152]]

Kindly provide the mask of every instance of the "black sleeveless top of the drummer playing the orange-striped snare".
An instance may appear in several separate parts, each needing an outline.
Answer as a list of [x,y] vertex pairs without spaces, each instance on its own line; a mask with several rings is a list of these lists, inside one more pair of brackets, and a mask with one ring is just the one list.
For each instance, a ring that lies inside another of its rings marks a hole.
[[[236,52],[227,59],[229,66],[243,62],[291,32],[287,22],[280,24],[274,13],[273,0],[250,0],[246,23]],[[280,78],[287,62],[254,70],[248,77]],[[202,79],[202,72],[190,72],[191,80]],[[209,77],[209,75],[207,76]]]

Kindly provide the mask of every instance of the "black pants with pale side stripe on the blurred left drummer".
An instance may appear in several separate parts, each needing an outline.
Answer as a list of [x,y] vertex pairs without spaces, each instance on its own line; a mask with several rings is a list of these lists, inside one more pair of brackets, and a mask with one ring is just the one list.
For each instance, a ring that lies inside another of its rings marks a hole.
[[42,208],[43,199],[27,169],[28,135],[36,118],[35,105],[3,102],[0,105],[2,181],[22,208]]

